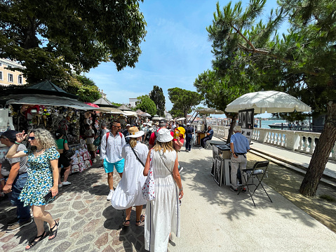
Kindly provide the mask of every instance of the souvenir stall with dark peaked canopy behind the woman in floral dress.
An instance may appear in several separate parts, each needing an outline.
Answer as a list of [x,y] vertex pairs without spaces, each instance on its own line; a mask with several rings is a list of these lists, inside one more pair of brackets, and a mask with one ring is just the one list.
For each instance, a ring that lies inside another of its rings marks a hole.
[[85,141],[80,138],[81,122],[89,119],[85,116],[86,110],[93,108],[75,100],[76,95],[66,93],[51,81],[42,84],[5,92],[0,102],[8,107],[16,131],[45,128],[52,135],[59,128],[65,131],[75,160],[71,163],[78,166],[73,165],[72,172],[83,171],[91,164]]

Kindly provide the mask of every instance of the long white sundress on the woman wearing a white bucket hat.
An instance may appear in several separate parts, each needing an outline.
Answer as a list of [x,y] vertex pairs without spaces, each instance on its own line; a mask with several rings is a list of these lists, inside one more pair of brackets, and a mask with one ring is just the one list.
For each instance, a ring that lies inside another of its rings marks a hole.
[[[173,168],[177,152],[166,152],[160,157],[153,152],[155,199],[147,201],[145,217],[145,249],[148,251],[167,251],[169,233],[180,237],[180,204],[178,187],[173,178]],[[163,161],[166,166],[164,166]]]

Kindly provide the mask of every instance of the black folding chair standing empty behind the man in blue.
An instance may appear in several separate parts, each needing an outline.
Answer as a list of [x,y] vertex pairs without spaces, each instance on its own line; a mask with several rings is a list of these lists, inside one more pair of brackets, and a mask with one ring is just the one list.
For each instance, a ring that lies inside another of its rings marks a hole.
[[[253,204],[255,205],[255,201],[253,200],[253,194],[255,194],[255,191],[258,189],[258,187],[261,185],[262,189],[264,190],[264,192],[266,192],[264,186],[262,185],[262,179],[264,178],[265,175],[267,175],[267,168],[269,167],[269,161],[258,161],[255,163],[255,165],[253,166],[253,168],[251,169],[243,169],[241,170],[241,175],[243,175],[245,177],[245,185],[241,186],[241,190],[244,187],[248,188],[248,193],[250,194],[250,197],[253,201]],[[253,182],[253,179],[257,178],[257,184]],[[249,183],[249,181],[252,180],[251,183]],[[255,185],[255,190],[253,190],[253,192],[250,191],[250,187],[249,185]],[[238,194],[241,193],[241,190],[238,192]],[[266,192],[267,197],[269,197],[269,194]],[[269,200],[273,203],[273,201],[271,200],[271,198],[269,197]]]

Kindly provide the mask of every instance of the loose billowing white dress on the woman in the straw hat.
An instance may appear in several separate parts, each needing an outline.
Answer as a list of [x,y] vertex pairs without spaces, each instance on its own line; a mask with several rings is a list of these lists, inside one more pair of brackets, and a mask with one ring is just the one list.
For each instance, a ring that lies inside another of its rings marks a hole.
[[[134,147],[137,157],[146,164],[148,147],[137,141]],[[147,203],[142,198],[142,187],[145,184],[146,177],[143,175],[144,166],[135,157],[129,144],[123,147],[121,156],[125,159],[123,168],[123,177],[114,191],[111,199],[112,206],[116,209],[126,209],[131,206],[141,206]]]

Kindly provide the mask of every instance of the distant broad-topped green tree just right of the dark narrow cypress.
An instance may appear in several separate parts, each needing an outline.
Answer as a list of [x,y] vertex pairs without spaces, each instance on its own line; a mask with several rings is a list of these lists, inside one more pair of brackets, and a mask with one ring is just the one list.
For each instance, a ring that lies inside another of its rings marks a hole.
[[199,93],[182,88],[169,88],[168,95],[170,102],[173,103],[173,112],[177,113],[180,110],[185,118],[191,112],[191,107],[199,105],[203,100]]

